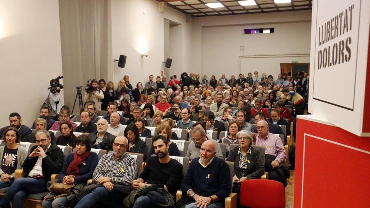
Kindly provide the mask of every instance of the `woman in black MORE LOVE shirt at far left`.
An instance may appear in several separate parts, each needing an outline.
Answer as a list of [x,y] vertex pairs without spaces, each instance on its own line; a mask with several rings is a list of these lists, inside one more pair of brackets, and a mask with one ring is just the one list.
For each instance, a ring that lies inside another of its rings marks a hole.
[[27,158],[27,150],[19,145],[20,133],[16,127],[8,127],[2,138],[6,145],[0,147],[0,188],[10,187],[14,182],[14,172],[22,168]]

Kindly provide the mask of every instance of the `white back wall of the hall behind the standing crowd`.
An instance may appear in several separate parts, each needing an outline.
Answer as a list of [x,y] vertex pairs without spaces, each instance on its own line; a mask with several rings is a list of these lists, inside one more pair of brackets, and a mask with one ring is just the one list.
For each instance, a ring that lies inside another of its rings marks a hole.
[[[274,33],[243,34],[243,29],[269,27],[275,28]],[[239,56],[310,53],[310,32],[311,10],[195,17],[192,32],[192,71],[201,74],[201,77],[207,75],[209,79],[212,74],[219,78],[223,73],[229,78],[231,74],[238,74]],[[244,46],[244,51],[240,51],[240,46]],[[263,60],[266,61],[269,59]],[[282,60],[282,63],[283,61],[286,60]],[[303,58],[303,61],[309,62],[309,57]],[[273,65],[275,62],[271,61],[268,66]],[[249,71],[266,71],[267,75],[272,74],[275,78],[279,74],[279,67],[253,66]]]

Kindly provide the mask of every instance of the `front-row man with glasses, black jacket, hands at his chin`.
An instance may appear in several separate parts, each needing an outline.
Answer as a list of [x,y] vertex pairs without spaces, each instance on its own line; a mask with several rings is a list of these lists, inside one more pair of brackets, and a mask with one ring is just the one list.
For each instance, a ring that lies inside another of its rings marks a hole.
[[7,189],[5,196],[0,200],[0,207],[23,207],[23,199],[28,194],[46,192],[46,184],[52,174],[62,170],[63,151],[51,141],[47,130],[36,132],[36,143],[31,153],[23,162],[24,178],[19,178]]

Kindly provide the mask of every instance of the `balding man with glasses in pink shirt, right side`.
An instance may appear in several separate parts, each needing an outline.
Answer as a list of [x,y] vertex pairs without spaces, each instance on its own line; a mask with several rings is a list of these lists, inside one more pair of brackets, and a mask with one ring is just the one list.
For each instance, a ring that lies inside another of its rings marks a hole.
[[253,145],[265,147],[265,171],[269,172],[270,180],[282,182],[286,186],[286,178],[289,177],[286,177],[285,171],[283,171],[286,168],[284,164],[286,152],[283,142],[278,135],[269,132],[267,121],[260,120],[256,125],[258,134],[253,140]]

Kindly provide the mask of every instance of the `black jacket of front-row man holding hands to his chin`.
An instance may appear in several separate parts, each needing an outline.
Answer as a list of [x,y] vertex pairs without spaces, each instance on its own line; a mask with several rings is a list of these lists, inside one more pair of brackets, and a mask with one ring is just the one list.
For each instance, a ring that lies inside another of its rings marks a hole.
[[[31,153],[37,148],[38,146],[34,146],[31,149]],[[28,155],[29,156],[29,155]],[[25,173],[25,177],[31,172],[33,167],[36,164],[38,157],[29,158],[23,162],[23,170]],[[55,144],[55,142],[51,141],[51,145],[49,150],[46,152],[46,157],[43,158],[41,168],[43,170],[43,179],[45,184],[50,181],[50,177],[52,174],[59,174],[62,170],[62,166],[64,163],[64,155],[63,151]]]

